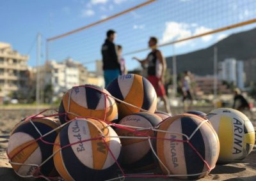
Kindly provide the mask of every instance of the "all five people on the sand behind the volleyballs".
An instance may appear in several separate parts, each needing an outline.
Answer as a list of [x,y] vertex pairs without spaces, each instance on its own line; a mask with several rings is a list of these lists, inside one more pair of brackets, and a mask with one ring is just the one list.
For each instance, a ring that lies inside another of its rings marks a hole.
[[[116,32],[113,30],[109,30],[106,34],[106,40],[102,45],[102,61],[103,61],[103,70],[104,70],[104,80],[105,87],[108,86],[110,82],[112,82],[119,75],[123,75],[127,73],[127,68],[125,67],[125,60],[122,57],[122,46],[115,45],[115,37]],[[156,90],[157,96],[161,98],[164,102],[164,108],[166,112],[170,113],[170,105],[168,98],[166,96],[166,91],[164,89],[164,73],[166,71],[166,61],[163,57],[163,54],[160,50],[157,49],[157,38],[150,37],[148,41],[148,47],[151,48],[151,52],[147,55],[147,57],[143,60],[138,59],[137,57],[133,57],[136,61],[140,62],[143,68],[147,67],[147,79]],[[182,85],[182,95],[183,95],[183,103],[184,103],[184,111],[188,110],[188,108],[193,103],[193,96],[191,95],[191,80],[190,80],[190,72],[184,71],[184,77],[181,81]],[[247,101],[239,94],[239,91],[235,91],[234,96],[234,105],[237,101],[241,102],[241,107],[237,109],[248,108]],[[186,106],[186,99],[189,99],[189,106]]]

